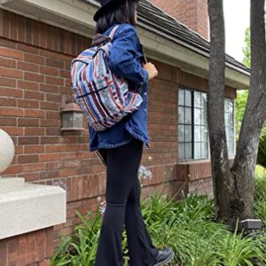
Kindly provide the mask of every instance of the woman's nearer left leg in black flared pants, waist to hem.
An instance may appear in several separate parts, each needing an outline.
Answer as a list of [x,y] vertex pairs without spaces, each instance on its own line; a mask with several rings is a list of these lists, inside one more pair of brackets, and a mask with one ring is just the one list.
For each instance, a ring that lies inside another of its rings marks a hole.
[[127,200],[142,152],[143,143],[136,138],[107,151],[106,212],[100,231],[96,266],[122,266],[121,238]]

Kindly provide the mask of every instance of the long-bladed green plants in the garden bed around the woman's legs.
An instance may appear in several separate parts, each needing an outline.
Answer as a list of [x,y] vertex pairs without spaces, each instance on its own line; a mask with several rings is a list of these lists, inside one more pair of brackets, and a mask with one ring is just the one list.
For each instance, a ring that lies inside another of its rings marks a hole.
[[[254,211],[266,225],[266,174],[256,169]],[[141,202],[142,213],[153,244],[158,248],[171,246],[175,259],[171,265],[183,266],[252,266],[266,265],[266,236],[244,237],[231,233],[214,219],[214,201],[206,196],[189,195],[183,200],[168,199],[153,193]],[[84,218],[73,237],[62,239],[51,265],[92,266],[101,226],[98,219]],[[129,265],[126,232],[123,231],[124,265]],[[134,265],[135,266],[135,265]]]

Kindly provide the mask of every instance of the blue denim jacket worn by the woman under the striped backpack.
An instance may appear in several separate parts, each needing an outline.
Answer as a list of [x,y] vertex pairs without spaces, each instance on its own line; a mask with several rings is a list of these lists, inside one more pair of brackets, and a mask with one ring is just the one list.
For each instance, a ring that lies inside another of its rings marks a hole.
[[[104,35],[109,35],[115,25],[107,29]],[[142,67],[143,59],[142,46],[137,36],[136,27],[121,24],[113,35],[108,64],[113,73],[129,82],[129,88],[141,86],[143,102],[138,110],[129,113],[111,128],[95,131],[89,125],[90,152],[99,148],[114,148],[127,144],[132,137],[140,139],[150,147],[147,129],[148,72]]]

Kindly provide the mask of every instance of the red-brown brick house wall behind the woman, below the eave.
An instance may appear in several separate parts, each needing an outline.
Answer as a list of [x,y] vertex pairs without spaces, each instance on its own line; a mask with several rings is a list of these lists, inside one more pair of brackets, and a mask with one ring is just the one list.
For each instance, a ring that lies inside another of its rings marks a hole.
[[[12,166],[2,176],[66,184],[67,221],[54,228],[57,246],[59,235],[71,234],[80,223],[75,210],[86,214],[105,200],[106,168],[96,153],[89,153],[88,130],[60,131],[61,98],[72,94],[70,62],[90,46],[90,39],[4,10],[0,21],[0,127],[16,146]],[[153,63],[160,74],[149,84],[151,148],[144,146],[142,158],[153,179],[145,180],[143,197],[155,190],[180,197],[181,189],[189,192],[199,180],[203,192],[211,193],[209,161],[179,163],[177,154],[178,86],[207,91],[207,80]],[[227,88],[226,95],[235,98],[235,90]],[[200,174],[184,171],[191,168],[200,168]]]

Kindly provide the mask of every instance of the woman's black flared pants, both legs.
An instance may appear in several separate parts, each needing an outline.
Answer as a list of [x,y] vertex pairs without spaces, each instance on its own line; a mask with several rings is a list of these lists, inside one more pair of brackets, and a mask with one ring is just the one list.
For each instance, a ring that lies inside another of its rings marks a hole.
[[130,266],[153,265],[158,250],[145,228],[139,205],[140,184],[137,176],[143,142],[133,138],[113,149],[99,149],[106,160],[106,212],[103,219],[96,266],[122,266],[123,225],[128,236]]

